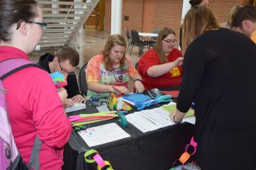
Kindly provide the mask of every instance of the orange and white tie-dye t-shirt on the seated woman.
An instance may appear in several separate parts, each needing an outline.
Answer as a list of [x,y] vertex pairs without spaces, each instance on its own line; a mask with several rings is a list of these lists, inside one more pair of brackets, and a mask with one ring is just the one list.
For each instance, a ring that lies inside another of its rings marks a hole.
[[[99,82],[102,85],[126,86],[129,77],[137,74],[134,64],[130,57],[126,57],[125,71],[121,71],[120,67],[114,68],[113,71],[106,71],[102,54],[98,54],[90,59],[86,67],[86,82]],[[90,90],[87,92],[87,98],[90,97],[106,97],[109,93],[94,93]]]

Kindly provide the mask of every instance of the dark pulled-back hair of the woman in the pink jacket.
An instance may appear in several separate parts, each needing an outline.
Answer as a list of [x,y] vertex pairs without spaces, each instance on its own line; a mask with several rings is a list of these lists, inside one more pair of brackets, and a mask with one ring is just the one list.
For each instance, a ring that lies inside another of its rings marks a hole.
[[10,42],[10,26],[21,21],[30,21],[38,16],[34,0],[1,0],[0,1],[0,42]]

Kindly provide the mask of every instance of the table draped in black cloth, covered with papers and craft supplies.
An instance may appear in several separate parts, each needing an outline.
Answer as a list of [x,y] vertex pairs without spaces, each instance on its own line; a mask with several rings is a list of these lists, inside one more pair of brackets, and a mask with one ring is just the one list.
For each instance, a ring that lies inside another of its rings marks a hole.
[[[80,113],[96,113],[96,109],[89,102],[86,110],[80,110],[69,115]],[[102,121],[88,125],[93,127],[116,120]],[[123,128],[130,133],[130,138],[114,141],[92,147],[96,149],[104,160],[110,161],[116,170],[166,170],[170,169],[174,160],[184,152],[194,132],[194,125],[182,123],[161,128],[152,132],[142,133],[133,125]],[[72,132],[68,144],[64,149],[64,165],[62,169],[94,170],[96,164],[85,164],[84,152],[89,147],[76,133]]]

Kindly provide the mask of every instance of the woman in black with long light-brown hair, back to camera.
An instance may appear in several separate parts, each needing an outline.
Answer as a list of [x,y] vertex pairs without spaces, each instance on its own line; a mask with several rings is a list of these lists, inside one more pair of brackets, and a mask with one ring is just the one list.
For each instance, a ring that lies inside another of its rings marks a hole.
[[255,169],[256,45],[220,28],[209,8],[184,19],[182,87],[171,120],[181,122],[194,102],[196,160],[202,169]]

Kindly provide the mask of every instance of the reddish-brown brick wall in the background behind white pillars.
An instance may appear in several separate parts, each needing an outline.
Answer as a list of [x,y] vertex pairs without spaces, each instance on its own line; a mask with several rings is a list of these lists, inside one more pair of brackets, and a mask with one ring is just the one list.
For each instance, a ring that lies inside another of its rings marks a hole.
[[[146,0],[145,0],[146,1]],[[252,4],[252,0],[209,0],[210,9],[216,14],[218,20],[226,22],[227,14],[236,4]],[[106,0],[105,31],[110,32],[111,26],[111,0]],[[122,0],[122,34],[128,27],[130,30],[142,31],[143,0]],[[124,15],[129,21],[124,21]],[[168,26],[176,32],[179,38],[179,27],[182,18],[182,0],[155,0],[154,28]]]

